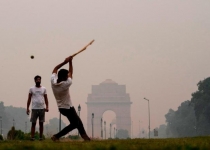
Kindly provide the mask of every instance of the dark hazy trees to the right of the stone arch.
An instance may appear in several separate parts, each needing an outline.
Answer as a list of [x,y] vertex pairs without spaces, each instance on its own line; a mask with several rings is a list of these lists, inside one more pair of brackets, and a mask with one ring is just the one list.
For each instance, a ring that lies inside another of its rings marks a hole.
[[190,100],[165,115],[167,137],[210,135],[210,77],[199,81],[197,87]]

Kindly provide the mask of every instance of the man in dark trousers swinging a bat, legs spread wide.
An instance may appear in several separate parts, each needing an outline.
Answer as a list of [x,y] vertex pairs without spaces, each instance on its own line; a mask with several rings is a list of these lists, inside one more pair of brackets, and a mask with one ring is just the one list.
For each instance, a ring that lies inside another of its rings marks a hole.
[[[51,86],[55,99],[57,101],[59,112],[62,115],[66,116],[70,122],[70,124],[66,126],[63,130],[51,137],[53,141],[59,140],[60,137],[66,135],[76,128],[85,141],[90,141],[90,138],[85,132],[82,121],[73,107],[69,94],[69,87],[72,84],[73,74],[72,59],[72,56],[67,57],[62,63],[58,64],[52,72]],[[69,63],[69,71],[66,69],[60,69],[63,65],[67,63]],[[60,69],[59,72],[58,69]]]

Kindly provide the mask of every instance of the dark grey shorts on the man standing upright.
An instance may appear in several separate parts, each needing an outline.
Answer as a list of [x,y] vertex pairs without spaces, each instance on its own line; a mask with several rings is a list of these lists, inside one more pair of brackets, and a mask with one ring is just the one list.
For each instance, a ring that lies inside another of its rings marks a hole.
[[36,123],[37,118],[39,118],[39,122],[45,121],[45,110],[44,109],[32,109],[30,121],[32,123]]

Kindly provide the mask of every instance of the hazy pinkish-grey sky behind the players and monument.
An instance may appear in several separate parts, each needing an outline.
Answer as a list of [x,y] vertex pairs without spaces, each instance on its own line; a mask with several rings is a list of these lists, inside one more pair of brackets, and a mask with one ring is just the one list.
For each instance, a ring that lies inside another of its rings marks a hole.
[[210,76],[209,10],[209,0],[0,0],[0,101],[26,107],[39,74],[50,102],[47,120],[58,116],[52,69],[95,39],[73,60],[71,97],[85,127],[91,85],[112,79],[130,94],[134,133],[139,120],[148,128],[144,97],[153,129]]

